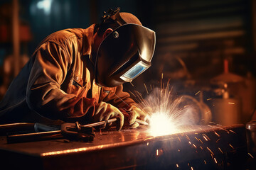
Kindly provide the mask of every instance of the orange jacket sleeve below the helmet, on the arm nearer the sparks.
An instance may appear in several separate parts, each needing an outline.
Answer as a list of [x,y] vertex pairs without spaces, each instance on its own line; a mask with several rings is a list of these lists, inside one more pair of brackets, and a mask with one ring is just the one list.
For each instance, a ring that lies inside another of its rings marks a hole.
[[103,101],[110,103],[117,108],[123,108],[124,110],[130,110],[132,106],[137,106],[137,103],[130,98],[130,95],[123,91],[122,85],[119,85],[115,87],[113,91],[110,91],[110,94],[108,94]]

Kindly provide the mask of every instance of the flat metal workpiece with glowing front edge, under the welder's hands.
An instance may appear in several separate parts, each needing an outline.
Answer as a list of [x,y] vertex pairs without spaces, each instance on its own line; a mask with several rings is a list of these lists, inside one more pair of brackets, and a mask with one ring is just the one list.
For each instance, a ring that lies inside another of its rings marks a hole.
[[147,126],[95,132],[93,142],[46,140],[6,144],[6,166],[33,169],[232,169],[247,159],[244,125],[186,126],[153,137]]

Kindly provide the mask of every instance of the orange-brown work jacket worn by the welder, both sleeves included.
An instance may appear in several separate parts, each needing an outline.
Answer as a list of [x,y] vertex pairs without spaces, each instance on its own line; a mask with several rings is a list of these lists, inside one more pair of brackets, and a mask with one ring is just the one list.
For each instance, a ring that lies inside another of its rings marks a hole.
[[100,87],[91,79],[94,28],[60,30],[41,42],[1,101],[0,123],[87,121],[100,101],[129,109],[134,101],[122,85]]

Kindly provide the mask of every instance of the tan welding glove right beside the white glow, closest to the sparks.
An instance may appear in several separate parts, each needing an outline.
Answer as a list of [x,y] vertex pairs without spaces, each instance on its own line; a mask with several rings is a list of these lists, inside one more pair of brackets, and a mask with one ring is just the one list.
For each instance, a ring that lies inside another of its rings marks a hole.
[[137,118],[139,118],[140,120],[147,121],[149,115],[137,106],[132,106],[129,113],[129,125],[132,125],[132,128],[137,128],[139,126],[139,123],[135,122]]

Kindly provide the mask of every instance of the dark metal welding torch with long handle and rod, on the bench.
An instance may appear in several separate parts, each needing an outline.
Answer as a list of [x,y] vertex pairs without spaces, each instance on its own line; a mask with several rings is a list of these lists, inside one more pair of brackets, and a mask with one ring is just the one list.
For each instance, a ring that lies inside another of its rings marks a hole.
[[[93,127],[99,125],[105,125],[107,123],[114,123],[117,121],[117,118],[112,118],[110,120],[103,120],[97,123],[90,123],[87,125],[80,125],[78,122],[76,123],[63,123],[60,126],[60,130],[56,130],[54,127],[50,127],[48,125],[43,125],[41,123],[34,123],[34,128],[36,131],[38,130],[48,130],[46,132],[31,132],[31,133],[24,133],[18,135],[7,135],[6,140],[7,143],[17,143],[17,142],[32,142],[38,140],[53,140],[53,139],[60,139],[66,138],[68,140],[75,140],[75,141],[83,141],[89,142],[92,141],[95,137],[93,132]],[[135,120],[135,122],[148,125],[143,120]]]

